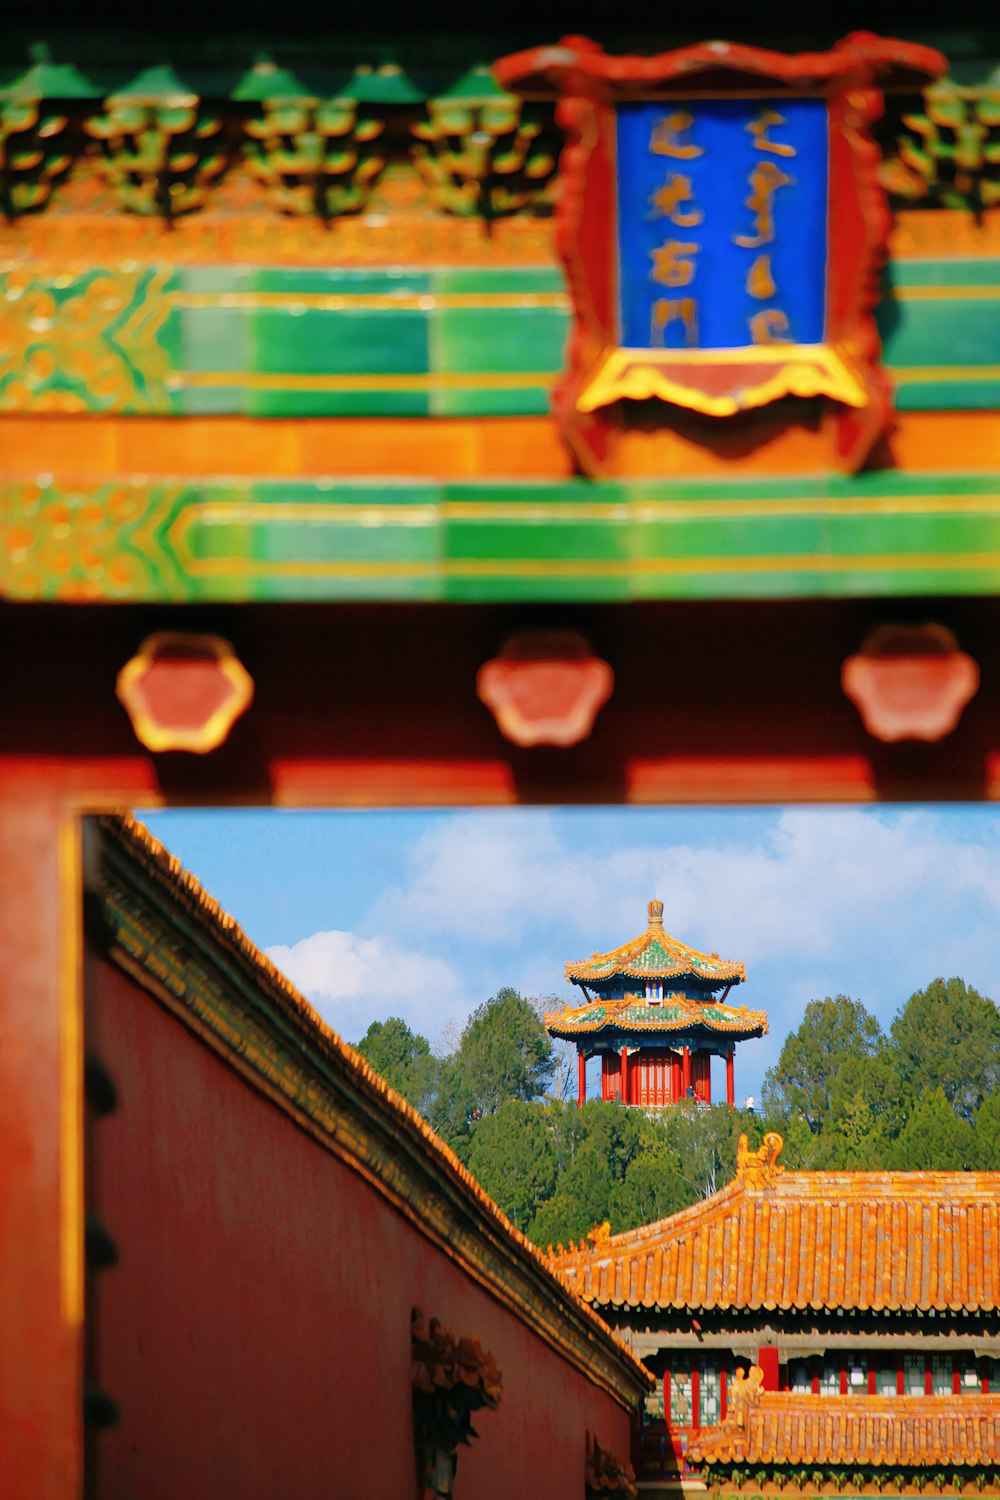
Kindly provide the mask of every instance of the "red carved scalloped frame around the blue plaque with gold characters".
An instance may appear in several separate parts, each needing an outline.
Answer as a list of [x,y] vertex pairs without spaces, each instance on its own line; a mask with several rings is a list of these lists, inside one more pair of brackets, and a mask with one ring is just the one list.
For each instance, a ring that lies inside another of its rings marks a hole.
[[[892,423],[892,387],[882,368],[882,340],[873,315],[879,268],[886,255],[889,208],[879,184],[880,153],[871,124],[883,108],[883,90],[919,87],[945,70],[940,52],[910,42],[855,33],[828,52],[763,51],[729,42],[702,42],[657,57],[609,57],[597,44],[567,38],[558,46],[516,52],[495,66],[499,82],[528,96],[558,94],[558,123],[565,134],[561,198],[556,208],[556,249],[564,262],[574,322],[567,369],[553,392],[553,410],[564,441],[577,465],[589,474],[613,472],[615,438],[628,423],[627,399],[592,405],[595,376],[618,370],[622,398],[660,394],[670,388],[649,376],[652,360],[643,351],[619,351],[616,308],[616,177],[615,106],[636,99],[697,99],[699,94],[735,98],[759,92],[822,98],[829,118],[829,228],[825,357],[843,372],[852,405],[835,404],[834,460],[858,470]],[[658,364],[664,358],[660,352]],[[744,351],[741,351],[742,354]],[[720,357],[721,356],[721,357]],[[808,364],[790,378],[774,380],[780,369],[775,351],[760,369],[741,362],[741,392],[733,398],[735,368],[726,351],[706,351],[699,380],[699,410],[747,410],[777,394],[814,394],[820,384]],[[669,362],[667,362],[669,363]],[[790,362],[789,362],[790,368]],[[660,384],[660,392],[654,387]],[[712,386],[723,394],[714,394]],[[729,387],[729,390],[727,390]],[[798,387],[798,388],[796,388]],[[676,387],[673,387],[676,390]],[[828,390],[829,382],[828,382]],[[682,405],[696,405],[681,399]],[[589,406],[592,410],[582,410]],[[676,406],[667,406],[667,412]],[[669,416],[667,418],[669,420]],[[726,422],[724,416],[715,420]],[[790,418],[792,420],[792,418]],[[721,434],[720,434],[721,436]]]

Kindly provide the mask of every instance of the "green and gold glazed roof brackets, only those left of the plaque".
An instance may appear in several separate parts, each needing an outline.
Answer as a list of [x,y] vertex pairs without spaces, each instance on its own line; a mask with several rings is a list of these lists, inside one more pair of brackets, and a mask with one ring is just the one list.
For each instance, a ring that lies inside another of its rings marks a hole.
[[[55,90],[55,92],[54,92]],[[262,57],[225,93],[169,64],[112,84],[36,63],[0,88],[7,218],[49,204],[166,222],[211,207],[328,224],[361,212],[546,214],[550,105],[505,93],[489,66],[427,93],[400,66],[304,78]]]

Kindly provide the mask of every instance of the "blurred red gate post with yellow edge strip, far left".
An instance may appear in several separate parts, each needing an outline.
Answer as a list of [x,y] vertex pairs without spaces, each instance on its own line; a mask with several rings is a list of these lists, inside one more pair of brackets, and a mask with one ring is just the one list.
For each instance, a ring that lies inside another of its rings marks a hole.
[[[75,1497],[82,1438],[78,1245],[66,1245],[58,798],[0,770],[0,1496]],[[75,888],[70,894],[76,894]],[[70,1200],[72,1206],[72,1200]]]

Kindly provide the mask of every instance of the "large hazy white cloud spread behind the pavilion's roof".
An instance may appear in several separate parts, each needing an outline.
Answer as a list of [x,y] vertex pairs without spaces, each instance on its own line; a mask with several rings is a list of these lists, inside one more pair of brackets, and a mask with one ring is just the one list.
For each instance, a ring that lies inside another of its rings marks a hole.
[[933,808],[787,808],[735,816],[732,837],[720,826],[706,843],[687,824],[685,843],[655,844],[634,820],[619,843],[588,842],[559,812],[453,816],[400,850],[375,922],[447,950],[475,999],[495,982],[567,996],[565,960],[636,936],[657,894],[669,932],[747,962],[747,1004],[772,1028],[754,1071],[814,996],[858,996],[888,1024],[939,974],[1000,993],[993,822],[970,837]]

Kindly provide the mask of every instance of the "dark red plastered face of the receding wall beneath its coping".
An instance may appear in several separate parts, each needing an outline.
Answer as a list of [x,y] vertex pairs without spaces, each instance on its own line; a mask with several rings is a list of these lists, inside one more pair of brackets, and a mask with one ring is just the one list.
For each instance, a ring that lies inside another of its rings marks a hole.
[[93,1374],[121,1407],[96,1438],[94,1497],[406,1500],[414,1305],[504,1371],[456,1500],[580,1500],[588,1428],[628,1454],[610,1396],[94,958],[87,1044],[120,1100],[88,1158],[120,1246],[90,1310]]

